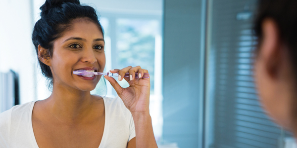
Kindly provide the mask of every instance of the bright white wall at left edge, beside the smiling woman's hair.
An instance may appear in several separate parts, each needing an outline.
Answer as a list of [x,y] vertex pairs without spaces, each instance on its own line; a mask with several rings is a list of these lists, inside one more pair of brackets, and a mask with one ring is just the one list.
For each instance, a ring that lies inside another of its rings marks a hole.
[[0,5],[0,71],[19,74],[22,104],[36,99],[31,7],[31,0],[1,0]]

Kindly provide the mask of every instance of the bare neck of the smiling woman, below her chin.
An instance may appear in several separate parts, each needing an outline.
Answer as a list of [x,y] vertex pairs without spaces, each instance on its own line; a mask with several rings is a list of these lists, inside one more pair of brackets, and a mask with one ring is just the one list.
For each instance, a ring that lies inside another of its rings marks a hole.
[[46,99],[49,112],[62,122],[75,123],[90,115],[94,102],[90,91],[79,91],[59,84],[53,86],[52,93]]

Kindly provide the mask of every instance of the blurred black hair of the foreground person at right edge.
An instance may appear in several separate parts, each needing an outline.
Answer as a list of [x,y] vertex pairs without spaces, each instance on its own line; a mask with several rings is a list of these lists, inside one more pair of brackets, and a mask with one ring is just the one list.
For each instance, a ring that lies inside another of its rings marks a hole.
[[254,24],[259,45],[263,37],[262,23],[267,18],[275,21],[279,38],[288,46],[290,60],[297,65],[297,0],[259,0]]

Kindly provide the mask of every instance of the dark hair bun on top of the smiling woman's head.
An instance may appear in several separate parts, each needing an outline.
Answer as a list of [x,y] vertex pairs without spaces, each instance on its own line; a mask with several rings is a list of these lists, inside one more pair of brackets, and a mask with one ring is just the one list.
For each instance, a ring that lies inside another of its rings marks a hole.
[[48,14],[49,9],[60,7],[65,2],[80,4],[79,0],[46,0],[45,4],[40,7],[41,16],[43,16],[44,14]]

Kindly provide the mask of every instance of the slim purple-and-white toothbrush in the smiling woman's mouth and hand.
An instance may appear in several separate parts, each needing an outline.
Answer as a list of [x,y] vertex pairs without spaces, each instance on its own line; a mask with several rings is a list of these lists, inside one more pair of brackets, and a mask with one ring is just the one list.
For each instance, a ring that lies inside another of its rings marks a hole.
[[[119,76],[119,73],[98,73],[98,72],[87,72],[86,70],[79,70],[79,71],[73,71],[73,74],[76,75],[108,75],[108,76]],[[92,76],[90,76],[92,77]],[[129,73],[126,73],[124,77],[130,77]],[[135,73],[135,78],[138,78],[138,73]],[[149,78],[149,74],[144,73],[142,78]]]

